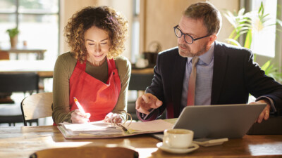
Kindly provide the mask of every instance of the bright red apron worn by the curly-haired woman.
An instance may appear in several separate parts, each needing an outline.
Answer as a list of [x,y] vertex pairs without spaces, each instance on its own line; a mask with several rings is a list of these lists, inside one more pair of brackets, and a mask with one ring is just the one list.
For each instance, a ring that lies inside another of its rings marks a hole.
[[73,97],[78,99],[85,112],[90,113],[90,121],[99,121],[111,112],[121,91],[121,80],[118,77],[118,70],[113,59],[108,62],[108,80],[106,84],[95,79],[85,72],[86,62],[78,61],[70,79],[70,111],[78,109]]

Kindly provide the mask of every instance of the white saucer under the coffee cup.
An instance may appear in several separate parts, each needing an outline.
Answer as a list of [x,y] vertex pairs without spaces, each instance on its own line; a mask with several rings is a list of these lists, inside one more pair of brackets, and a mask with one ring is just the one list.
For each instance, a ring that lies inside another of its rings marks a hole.
[[178,148],[168,147],[166,145],[163,145],[162,142],[160,142],[160,143],[157,143],[157,147],[159,147],[159,149],[164,150],[166,152],[171,152],[171,153],[175,153],[175,154],[184,154],[184,153],[188,153],[188,152],[192,152],[194,150],[197,150],[197,148],[199,148],[199,145],[192,143],[190,145],[190,147],[188,147],[188,148],[178,149]]

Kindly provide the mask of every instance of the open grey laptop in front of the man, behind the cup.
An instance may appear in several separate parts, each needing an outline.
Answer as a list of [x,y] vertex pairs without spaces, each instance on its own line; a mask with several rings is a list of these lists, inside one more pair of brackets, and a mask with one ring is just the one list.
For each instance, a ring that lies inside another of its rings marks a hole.
[[[242,138],[266,104],[196,105],[183,109],[173,129],[190,129],[194,138]],[[156,134],[161,140],[162,134]]]

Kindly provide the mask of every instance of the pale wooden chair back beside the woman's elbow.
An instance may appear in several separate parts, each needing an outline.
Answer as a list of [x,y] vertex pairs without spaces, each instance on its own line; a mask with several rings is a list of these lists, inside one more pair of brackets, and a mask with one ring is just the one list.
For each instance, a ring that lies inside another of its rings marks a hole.
[[27,120],[52,116],[51,105],[53,93],[37,93],[27,96],[20,104],[23,115],[23,124],[27,126]]

